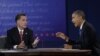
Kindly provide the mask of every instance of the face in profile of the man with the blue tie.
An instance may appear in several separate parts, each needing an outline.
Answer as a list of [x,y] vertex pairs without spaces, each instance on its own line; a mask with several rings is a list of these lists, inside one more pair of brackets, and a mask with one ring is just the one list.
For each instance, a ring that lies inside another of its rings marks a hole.
[[80,27],[81,25],[82,16],[79,16],[77,14],[72,14],[72,23],[75,27]]

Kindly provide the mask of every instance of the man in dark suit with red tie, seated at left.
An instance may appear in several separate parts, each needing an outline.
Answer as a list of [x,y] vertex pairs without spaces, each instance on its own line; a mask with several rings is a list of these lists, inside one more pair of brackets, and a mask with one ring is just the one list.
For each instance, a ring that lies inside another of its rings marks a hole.
[[[16,27],[7,31],[5,48],[7,49],[24,49],[33,48],[34,35],[33,31],[27,27],[27,16],[19,13],[15,17]],[[38,43],[37,39],[36,43]],[[35,43],[35,44],[36,44]]]

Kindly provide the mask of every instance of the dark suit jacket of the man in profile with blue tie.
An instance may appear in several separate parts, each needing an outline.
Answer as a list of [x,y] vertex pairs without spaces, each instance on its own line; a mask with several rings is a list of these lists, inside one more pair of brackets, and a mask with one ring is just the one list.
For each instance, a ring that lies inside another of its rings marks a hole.
[[93,49],[96,44],[96,32],[94,27],[87,21],[83,24],[81,35],[76,41],[69,40],[68,44],[72,44],[77,49]]

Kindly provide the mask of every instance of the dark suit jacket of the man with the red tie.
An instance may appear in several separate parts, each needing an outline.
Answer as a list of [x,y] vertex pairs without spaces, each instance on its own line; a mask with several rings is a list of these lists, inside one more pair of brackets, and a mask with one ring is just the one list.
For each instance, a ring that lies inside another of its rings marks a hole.
[[[33,31],[29,28],[24,29],[23,40],[27,48],[32,48],[33,39]],[[19,35],[19,31],[17,27],[14,27],[7,31],[7,38],[5,48],[13,49],[14,45],[19,45],[21,43],[21,38]]]

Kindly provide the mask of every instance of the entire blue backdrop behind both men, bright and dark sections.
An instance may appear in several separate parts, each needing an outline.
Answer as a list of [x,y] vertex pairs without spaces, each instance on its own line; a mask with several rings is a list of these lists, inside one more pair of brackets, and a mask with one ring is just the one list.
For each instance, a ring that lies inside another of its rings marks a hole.
[[17,13],[25,12],[28,26],[41,39],[38,47],[63,47],[64,41],[55,38],[55,32],[67,32],[71,39],[78,37],[71,14],[81,9],[86,13],[87,21],[96,28],[99,41],[99,5],[99,0],[0,0],[0,36],[6,35],[6,31],[15,25]]

